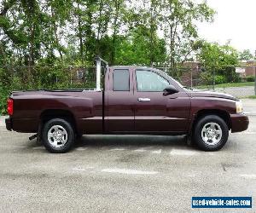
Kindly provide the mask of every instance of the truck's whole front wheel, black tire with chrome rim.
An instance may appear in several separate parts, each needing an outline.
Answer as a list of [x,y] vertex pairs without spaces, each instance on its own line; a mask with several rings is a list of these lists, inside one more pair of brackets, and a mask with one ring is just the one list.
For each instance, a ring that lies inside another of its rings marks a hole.
[[229,128],[223,118],[207,115],[195,124],[193,140],[204,151],[217,151],[229,138]]

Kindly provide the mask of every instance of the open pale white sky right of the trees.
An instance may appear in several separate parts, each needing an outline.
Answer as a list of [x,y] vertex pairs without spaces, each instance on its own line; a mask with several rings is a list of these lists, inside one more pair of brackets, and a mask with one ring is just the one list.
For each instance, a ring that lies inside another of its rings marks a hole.
[[217,11],[214,22],[198,24],[199,35],[207,41],[230,44],[238,50],[256,50],[256,0],[207,0]]

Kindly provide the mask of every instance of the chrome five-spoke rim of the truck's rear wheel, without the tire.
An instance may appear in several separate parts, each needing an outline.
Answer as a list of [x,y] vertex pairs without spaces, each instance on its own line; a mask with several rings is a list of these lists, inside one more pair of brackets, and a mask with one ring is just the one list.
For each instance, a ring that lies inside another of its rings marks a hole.
[[48,141],[52,147],[63,147],[67,143],[67,130],[61,125],[52,126],[48,131]]

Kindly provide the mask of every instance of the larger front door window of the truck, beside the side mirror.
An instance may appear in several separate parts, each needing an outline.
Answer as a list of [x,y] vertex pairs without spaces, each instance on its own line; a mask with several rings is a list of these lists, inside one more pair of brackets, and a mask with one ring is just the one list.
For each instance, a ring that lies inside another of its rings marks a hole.
[[170,83],[159,74],[147,70],[137,70],[137,90],[141,92],[162,92]]

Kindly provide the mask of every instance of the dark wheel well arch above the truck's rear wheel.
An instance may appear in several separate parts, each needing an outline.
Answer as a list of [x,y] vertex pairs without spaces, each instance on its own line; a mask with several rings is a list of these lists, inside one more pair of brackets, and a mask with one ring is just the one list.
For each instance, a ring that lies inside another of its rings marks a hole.
[[74,131],[77,132],[76,122],[72,112],[69,112],[68,110],[60,110],[60,109],[45,110],[40,115],[42,127],[46,122],[48,122],[52,118],[62,118],[67,120],[67,122],[72,124]]

